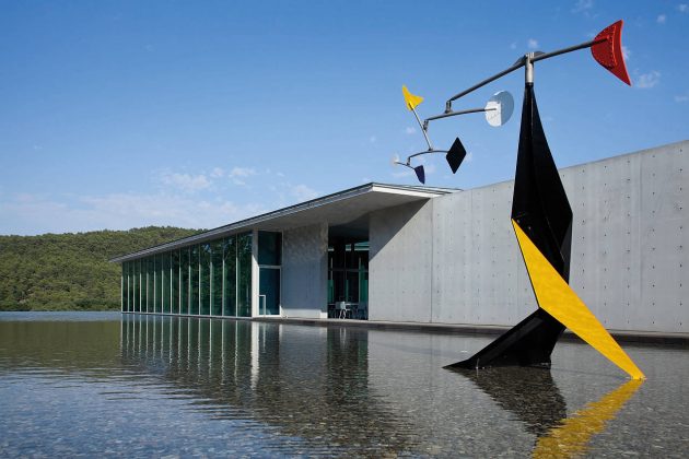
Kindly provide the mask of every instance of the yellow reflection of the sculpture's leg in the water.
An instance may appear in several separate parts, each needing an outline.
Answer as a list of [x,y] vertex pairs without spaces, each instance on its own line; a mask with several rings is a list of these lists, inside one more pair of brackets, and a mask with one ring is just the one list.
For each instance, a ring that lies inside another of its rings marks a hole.
[[535,458],[571,458],[587,452],[591,437],[602,433],[606,423],[614,420],[617,412],[637,392],[642,381],[627,381],[600,400],[589,403],[572,416],[562,420],[540,437],[534,448]]

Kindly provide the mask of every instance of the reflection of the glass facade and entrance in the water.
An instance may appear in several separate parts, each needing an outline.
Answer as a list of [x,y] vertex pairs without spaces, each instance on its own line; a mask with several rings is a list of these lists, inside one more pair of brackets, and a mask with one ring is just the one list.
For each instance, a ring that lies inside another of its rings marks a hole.
[[335,454],[338,445],[374,456],[410,446],[412,427],[369,387],[366,330],[135,315],[121,333],[125,365],[213,419],[262,422]]

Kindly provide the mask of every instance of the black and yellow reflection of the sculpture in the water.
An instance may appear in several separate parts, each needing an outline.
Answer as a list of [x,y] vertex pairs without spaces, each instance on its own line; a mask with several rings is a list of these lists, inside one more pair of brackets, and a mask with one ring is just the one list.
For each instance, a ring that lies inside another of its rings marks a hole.
[[503,367],[463,374],[536,436],[533,456],[537,458],[586,454],[593,436],[605,431],[643,382],[628,380],[568,416],[564,398],[549,370]]

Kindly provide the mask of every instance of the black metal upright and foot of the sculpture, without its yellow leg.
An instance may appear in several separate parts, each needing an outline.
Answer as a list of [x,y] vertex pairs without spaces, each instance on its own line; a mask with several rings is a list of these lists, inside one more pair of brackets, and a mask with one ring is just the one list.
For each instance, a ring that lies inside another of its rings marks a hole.
[[[540,123],[533,83],[524,90],[512,220],[569,282],[572,209]],[[550,367],[550,354],[563,331],[564,326],[539,307],[472,357],[446,368]]]

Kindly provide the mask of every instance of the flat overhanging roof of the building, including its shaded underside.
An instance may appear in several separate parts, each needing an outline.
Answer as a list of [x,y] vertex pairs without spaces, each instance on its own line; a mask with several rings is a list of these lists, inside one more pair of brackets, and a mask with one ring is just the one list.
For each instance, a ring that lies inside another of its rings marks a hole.
[[376,183],[365,184],[322,198],[312,199],[311,201],[230,223],[194,236],[122,255],[113,258],[110,261],[122,262],[136,260],[150,255],[186,247],[191,244],[205,243],[218,239],[219,237],[242,233],[247,229],[283,231],[320,222],[328,222],[330,226],[346,225],[361,219],[372,211],[414,201],[424,201],[456,191],[462,190],[458,188],[434,188]]

